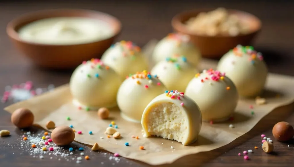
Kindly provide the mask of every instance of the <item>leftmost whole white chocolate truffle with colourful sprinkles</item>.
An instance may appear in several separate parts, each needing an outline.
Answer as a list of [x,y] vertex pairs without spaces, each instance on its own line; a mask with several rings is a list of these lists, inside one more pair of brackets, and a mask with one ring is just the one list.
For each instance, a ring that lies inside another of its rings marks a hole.
[[85,110],[116,106],[120,85],[119,75],[99,59],[84,61],[71,75],[69,83],[74,104]]

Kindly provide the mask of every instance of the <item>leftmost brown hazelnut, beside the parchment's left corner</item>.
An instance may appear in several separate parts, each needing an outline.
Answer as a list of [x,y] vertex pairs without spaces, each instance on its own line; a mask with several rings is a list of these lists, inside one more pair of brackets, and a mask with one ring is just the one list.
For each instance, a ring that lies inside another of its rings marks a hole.
[[29,109],[17,109],[11,115],[11,122],[18,128],[28,128],[34,123],[34,114]]

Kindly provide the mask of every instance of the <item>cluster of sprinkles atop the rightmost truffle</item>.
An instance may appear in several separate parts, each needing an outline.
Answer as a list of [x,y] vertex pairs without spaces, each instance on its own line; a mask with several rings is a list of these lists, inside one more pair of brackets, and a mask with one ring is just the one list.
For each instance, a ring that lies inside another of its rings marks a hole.
[[258,58],[260,61],[263,60],[262,54],[255,51],[253,46],[237,45],[230,51],[232,51],[236,56],[240,57],[243,56],[243,54],[247,54],[249,56],[248,60],[251,62],[251,64],[255,64],[256,58]]

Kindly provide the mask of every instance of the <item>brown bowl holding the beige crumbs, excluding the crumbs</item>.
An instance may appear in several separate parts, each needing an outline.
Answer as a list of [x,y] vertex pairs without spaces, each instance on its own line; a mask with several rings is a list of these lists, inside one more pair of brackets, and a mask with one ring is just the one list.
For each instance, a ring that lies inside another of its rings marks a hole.
[[250,31],[248,34],[238,35],[235,37],[223,35],[205,36],[197,35],[197,33],[188,30],[185,22],[189,18],[197,16],[197,14],[200,12],[208,12],[212,10],[214,9],[186,11],[174,16],[171,21],[173,29],[176,32],[181,32],[190,36],[191,41],[200,49],[203,57],[220,58],[223,56],[223,54],[227,53],[230,49],[233,49],[238,44],[250,45],[253,38],[261,29],[261,22],[257,17],[243,11],[228,9],[229,13],[236,14],[241,19],[241,21],[249,24]]

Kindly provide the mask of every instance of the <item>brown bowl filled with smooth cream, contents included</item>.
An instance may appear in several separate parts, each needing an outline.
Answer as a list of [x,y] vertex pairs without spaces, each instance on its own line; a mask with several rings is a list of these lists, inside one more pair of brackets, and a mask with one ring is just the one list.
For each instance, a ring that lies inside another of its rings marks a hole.
[[98,11],[53,9],[19,16],[8,23],[6,32],[36,66],[71,69],[100,58],[121,32],[121,22]]

